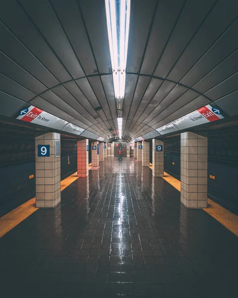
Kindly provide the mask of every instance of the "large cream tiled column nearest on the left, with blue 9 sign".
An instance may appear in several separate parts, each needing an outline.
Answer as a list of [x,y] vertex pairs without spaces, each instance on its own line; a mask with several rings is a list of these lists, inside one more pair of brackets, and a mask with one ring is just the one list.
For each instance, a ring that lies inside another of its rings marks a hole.
[[[36,207],[50,208],[61,201],[61,157],[56,157],[60,134],[47,133],[35,138]],[[38,156],[38,145],[49,145],[50,156]]]

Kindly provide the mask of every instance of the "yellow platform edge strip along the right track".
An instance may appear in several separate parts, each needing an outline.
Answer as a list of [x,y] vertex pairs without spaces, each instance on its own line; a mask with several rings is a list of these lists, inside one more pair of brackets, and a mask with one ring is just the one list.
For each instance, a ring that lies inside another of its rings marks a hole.
[[[149,166],[152,169],[152,166]],[[165,181],[171,184],[178,191],[181,191],[181,182],[164,172],[164,177],[162,177]],[[224,225],[227,229],[233,232],[236,236],[238,236],[238,216],[234,213],[230,212],[226,208],[220,206],[215,203],[211,199],[208,199],[208,208],[203,208],[203,210],[211,215],[215,220],[217,220],[220,224]]]

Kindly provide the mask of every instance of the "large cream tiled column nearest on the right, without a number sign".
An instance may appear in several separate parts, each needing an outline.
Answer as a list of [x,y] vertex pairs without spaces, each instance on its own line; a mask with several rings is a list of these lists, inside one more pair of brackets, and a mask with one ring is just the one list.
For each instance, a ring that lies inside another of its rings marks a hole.
[[207,208],[207,138],[186,132],[181,142],[181,203]]

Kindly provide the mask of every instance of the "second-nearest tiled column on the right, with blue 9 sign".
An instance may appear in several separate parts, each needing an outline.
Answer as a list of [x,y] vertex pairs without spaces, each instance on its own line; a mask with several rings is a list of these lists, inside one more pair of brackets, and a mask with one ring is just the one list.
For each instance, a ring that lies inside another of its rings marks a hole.
[[[158,151],[158,147],[161,149]],[[163,177],[163,142],[152,140],[152,175],[154,177]]]

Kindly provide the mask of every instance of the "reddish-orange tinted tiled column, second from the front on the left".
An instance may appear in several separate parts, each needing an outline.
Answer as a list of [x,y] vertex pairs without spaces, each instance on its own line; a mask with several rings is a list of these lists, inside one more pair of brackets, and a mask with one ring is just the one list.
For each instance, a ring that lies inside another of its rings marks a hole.
[[77,142],[78,177],[88,176],[88,140]]

